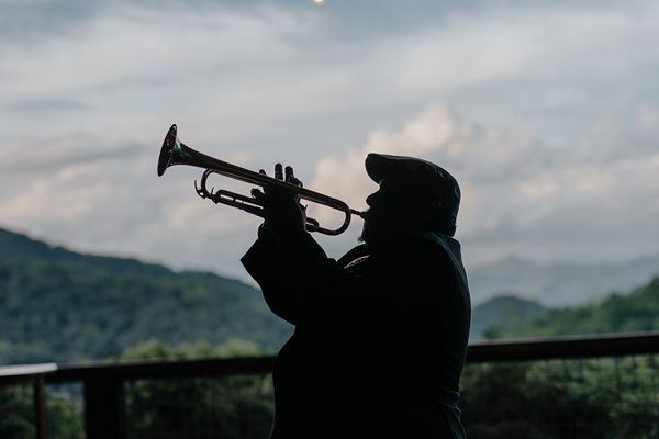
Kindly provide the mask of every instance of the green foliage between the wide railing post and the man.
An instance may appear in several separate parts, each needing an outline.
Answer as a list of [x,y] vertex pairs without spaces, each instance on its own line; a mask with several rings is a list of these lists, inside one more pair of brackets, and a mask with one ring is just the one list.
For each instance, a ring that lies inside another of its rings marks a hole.
[[[234,358],[263,354],[256,345],[233,339],[169,348],[148,341],[129,349],[122,360]],[[129,436],[135,438],[245,438],[268,436],[273,416],[269,375],[228,375],[126,383]]]

